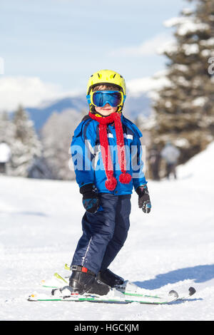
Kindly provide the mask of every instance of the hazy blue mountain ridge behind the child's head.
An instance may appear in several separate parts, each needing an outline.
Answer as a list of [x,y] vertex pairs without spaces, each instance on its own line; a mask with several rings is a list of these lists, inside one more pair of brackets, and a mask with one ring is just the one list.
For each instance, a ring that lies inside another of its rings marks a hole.
[[[151,109],[150,105],[151,99],[145,93],[138,96],[128,96],[126,98],[124,113],[131,118],[131,120],[135,120],[139,114],[148,116]],[[29,113],[29,118],[34,121],[37,131],[43,127],[52,113],[61,113],[66,109],[74,109],[79,113],[83,113],[85,110],[87,113],[88,103],[86,97],[84,95],[66,97],[53,100],[46,105],[40,105],[35,108],[25,107],[25,110]]]

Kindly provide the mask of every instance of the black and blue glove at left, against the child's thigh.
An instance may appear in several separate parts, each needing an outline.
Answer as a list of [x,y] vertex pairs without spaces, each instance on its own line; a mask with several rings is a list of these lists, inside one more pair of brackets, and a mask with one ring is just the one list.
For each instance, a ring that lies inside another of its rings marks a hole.
[[95,185],[83,185],[80,187],[79,192],[81,192],[81,195],[83,195],[83,206],[86,211],[90,213],[96,213],[99,207],[99,198]]

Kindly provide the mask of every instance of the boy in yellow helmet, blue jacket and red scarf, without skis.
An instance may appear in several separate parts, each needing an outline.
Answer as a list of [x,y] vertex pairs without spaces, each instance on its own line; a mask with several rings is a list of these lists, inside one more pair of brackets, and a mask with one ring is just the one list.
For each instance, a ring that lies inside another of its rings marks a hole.
[[101,70],[90,77],[90,111],[76,128],[71,154],[76,182],[86,209],[83,235],[71,262],[69,286],[79,294],[105,295],[123,278],[108,269],[128,234],[133,187],[138,206],[151,202],[141,161],[140,130],[122,115],[126,99],[123,77]]

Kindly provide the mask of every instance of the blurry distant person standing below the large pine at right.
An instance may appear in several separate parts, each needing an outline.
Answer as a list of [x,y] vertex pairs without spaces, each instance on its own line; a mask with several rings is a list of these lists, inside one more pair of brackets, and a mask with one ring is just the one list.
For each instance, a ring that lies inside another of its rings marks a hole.
[[176,175],[176,166],[178,164],[178,158],[180,156],[180,150],[175,147],[172,143],[168,142],[165,144],[165,147],[161,151],[161,157],[165,160],[166,163],[166,177],[169,179],[170,174],[172,173],[174,178],[177,178]]

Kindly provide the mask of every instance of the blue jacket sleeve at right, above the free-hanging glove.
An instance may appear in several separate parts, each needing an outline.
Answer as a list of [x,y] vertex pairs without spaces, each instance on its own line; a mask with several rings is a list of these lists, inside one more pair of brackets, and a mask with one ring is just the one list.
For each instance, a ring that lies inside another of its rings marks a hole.
[[143,184],[147,184],[146,177],[143,172],[143,148],[141,145],[140,138],[142,137],[142,133],[138,128],[135,126],[135,140],[133,141],[131,158],[132,158],[132,170],[133,170],[133,187],[138,188]]

